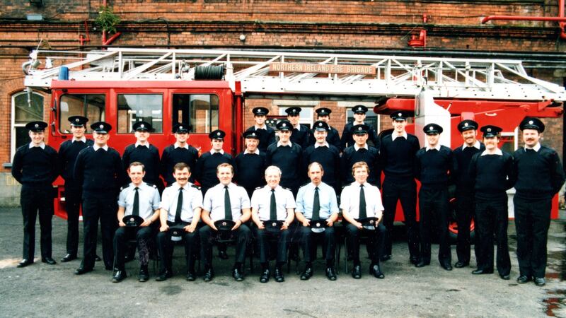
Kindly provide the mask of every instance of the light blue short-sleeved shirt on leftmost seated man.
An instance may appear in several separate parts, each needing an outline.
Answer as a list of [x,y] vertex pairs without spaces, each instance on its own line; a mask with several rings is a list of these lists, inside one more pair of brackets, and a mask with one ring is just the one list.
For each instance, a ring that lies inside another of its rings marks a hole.
[[136,188],[138,189],[139,198],[139,216],[147,220],[154,211],[159,208],[159,191],[157,187],[141,182],[138,187],[130,183],[128,187],[122,188],[118,196],[118,206],[125,208],[124,215],[130,216],[134,210],[134,198],[136,196]]

